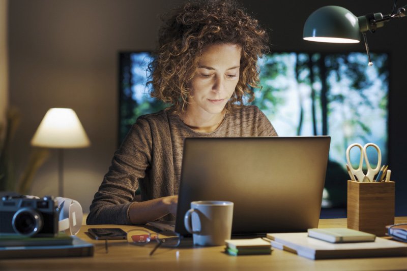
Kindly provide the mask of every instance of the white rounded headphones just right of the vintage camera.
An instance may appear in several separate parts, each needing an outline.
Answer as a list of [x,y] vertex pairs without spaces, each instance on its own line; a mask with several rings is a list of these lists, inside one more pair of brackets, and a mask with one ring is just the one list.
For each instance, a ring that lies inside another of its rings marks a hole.
[[66,234],[76,235],[82,226],[83,211],[79,202],[66,197],[55,197],[58,202],[59,231],[65,230]]

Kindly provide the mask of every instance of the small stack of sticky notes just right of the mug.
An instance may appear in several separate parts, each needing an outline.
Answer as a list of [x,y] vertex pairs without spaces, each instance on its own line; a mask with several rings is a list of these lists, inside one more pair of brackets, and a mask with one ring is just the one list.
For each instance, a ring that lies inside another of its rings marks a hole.
[[225,240],[225,252],[229,255],[271,254],[270,242],[261,238]]

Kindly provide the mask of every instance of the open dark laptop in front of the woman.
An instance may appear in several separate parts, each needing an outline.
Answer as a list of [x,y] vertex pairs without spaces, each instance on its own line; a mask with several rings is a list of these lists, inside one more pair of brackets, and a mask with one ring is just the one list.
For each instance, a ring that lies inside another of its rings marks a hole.
[[176,221],[150,225],[190,235],[195,200],[234,202],[232,235],[305,232],[318,226],[329,136],[187,138]]

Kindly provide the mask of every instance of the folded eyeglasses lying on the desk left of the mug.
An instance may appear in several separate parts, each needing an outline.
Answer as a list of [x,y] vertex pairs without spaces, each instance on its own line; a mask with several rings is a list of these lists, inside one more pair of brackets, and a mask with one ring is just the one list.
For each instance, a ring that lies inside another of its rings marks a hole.
[[[177,233],[172,233],[177,234]],[[151,241],[156,241],[157,245],[150,252],[150,256],[153,255],[161,245],[163,247],[175,248],[181,243],[181,235],[167,236],[156,232],[149,232],[143,229],[133,229],[127,232],[127,242],[131,245],[144,246]]]

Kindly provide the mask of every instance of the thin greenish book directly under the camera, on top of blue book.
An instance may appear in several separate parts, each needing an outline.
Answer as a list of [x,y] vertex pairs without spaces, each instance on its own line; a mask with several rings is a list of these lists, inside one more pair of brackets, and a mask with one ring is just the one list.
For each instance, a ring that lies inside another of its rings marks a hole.
[[27,237],[22,235],[0,235],[0,247],[12,246],[47,246],[47,245],[70,245],[72,236],[60,232],[55,237]]

